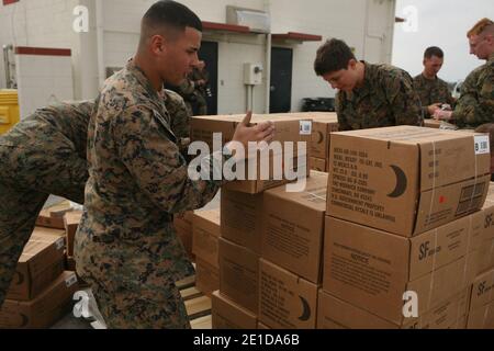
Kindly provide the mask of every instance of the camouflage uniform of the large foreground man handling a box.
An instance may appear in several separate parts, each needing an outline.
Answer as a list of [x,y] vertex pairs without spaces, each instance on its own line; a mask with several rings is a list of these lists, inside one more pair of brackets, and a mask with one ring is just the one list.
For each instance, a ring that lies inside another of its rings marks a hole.
[[[75,260],[110,328],[190,326],[175,282],[193,267],[172,215],[204,206],[223,181],[189,179],[171,125],[162,97],[132,60],[106,80],[90,120]],[[213,174],[226,158],[212,154],[201,167]]]

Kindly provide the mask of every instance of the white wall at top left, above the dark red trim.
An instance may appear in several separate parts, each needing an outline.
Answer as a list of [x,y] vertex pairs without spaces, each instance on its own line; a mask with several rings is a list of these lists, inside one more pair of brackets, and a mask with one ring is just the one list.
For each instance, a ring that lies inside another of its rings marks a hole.
[[[0,46],[70,48],[74,73],[74,97],[93,98],[96,80],[94,45],[96,0],[22,0],[9,5],[0,4]],[[89,33],[76,33],[72,11],[78,4],[89,9]],[[82,49],[83,47],[83,49]],[[94,60],[94,63],[93,63]],[[0,59],[0,88],[5,86],[3,59]]]

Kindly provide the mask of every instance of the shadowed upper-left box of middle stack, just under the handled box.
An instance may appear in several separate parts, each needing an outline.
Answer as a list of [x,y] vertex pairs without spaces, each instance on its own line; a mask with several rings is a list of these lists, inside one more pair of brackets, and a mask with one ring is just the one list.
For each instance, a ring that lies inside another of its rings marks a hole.
[[222,237],[260,256],[262,194],[250,195],[222,189]]

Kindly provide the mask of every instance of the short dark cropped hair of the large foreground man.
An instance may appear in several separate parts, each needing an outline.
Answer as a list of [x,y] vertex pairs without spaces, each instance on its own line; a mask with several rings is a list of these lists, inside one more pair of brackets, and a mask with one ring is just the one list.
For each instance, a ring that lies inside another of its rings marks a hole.
[[160,0],[144,14],[142,36],[149,37],[160,30],[184,32],[186,27],[202,32],[202,22],[188,7],[171,0]]

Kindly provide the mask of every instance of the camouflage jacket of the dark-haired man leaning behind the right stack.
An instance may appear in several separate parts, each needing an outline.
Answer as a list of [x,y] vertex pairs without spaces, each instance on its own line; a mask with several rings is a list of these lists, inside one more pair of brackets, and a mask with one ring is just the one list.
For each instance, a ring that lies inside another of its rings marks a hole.
[[363,64],[363,86],[337,93],[339,131],[422,125],[420,102],[412,77],[393,66]]

